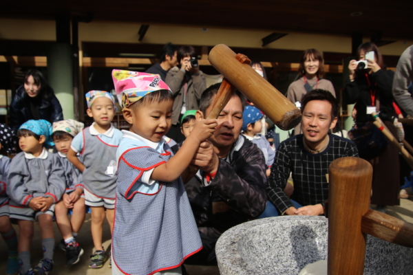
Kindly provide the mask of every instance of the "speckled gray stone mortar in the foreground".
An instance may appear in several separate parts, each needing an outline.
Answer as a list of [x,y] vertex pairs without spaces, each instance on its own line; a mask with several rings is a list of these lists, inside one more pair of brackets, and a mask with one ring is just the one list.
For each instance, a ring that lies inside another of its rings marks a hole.
[[[248,221],[222,234],[215,248],[221,275],[297,275],[327,259],[328,219],[284,216]],[[413,249],[368,236],[365,275],[412,274]]]

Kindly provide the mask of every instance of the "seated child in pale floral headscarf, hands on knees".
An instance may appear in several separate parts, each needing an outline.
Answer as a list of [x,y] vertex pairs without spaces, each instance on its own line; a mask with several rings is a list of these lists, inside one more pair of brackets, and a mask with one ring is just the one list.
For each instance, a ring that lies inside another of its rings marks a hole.
[[[57,155],[65,171],[66,190],[54,210],[56,223],[63,236],[58,247],[66,252],[66,265],[74,265],[81,259],[83,249],[76,242],[76,236],[85,220],[85,195],[81,172],[67,160],[67,152],[73,138],[83,130],[84,124],[76,120],[53,122],[53,142]],[[72,218],[67,217],[67,210],[72,210]]]

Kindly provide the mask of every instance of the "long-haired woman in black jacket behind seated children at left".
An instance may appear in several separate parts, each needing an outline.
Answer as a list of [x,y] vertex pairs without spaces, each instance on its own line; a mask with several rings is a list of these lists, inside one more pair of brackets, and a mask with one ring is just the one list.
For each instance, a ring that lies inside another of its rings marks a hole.
[[28,120],[47,120],[50,123],[63,120],[59,100],[43,74],[36,69],[25,74],[24,84],[17,88],[10,104],[10,127],[14,133]]

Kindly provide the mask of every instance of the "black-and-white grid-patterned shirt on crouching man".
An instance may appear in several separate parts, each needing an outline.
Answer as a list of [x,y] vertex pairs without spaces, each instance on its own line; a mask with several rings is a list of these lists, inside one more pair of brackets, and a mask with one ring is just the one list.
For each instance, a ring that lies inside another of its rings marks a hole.
[[306,151],[302,134],[282,142],[267,181],[269,201],[283,214],[293,206],[284,193],[290,172],[293,172],[294,192],[291,199],[301,206],[317,203],[324,206],[324,201],[328,199],[328,166],[339,157],[359,157],[351,140],[330,135],[326,150],[318,154]]

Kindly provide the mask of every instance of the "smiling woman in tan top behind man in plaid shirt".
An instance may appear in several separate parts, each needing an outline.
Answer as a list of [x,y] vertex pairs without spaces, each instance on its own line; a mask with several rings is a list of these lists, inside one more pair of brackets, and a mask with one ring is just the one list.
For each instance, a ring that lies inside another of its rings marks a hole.
[[[301,107],[301,99],[313,89],[324,89],[330,91],[335,96],[335,90],[329,80],[324,76],[324,60],[321,52],[315,49],[308,49],[303,52],[299,61],[299,74],[301,78],[290,84],[287,91],[287,98],[297,107]],[[300,124],[295,126],[294,134],[301,133]]]

